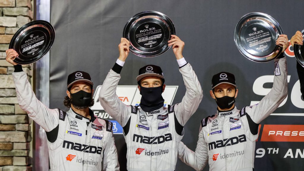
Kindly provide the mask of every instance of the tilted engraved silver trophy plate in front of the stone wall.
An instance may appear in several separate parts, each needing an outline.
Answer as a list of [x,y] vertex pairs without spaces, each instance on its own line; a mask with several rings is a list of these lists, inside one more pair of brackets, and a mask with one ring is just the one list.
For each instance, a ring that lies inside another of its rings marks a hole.
[[24,65],[38,61],[50,50],[54,38],[54,27],[47,21],[36,20],[25,24],[9,43],[9,48],[19,54],[14,62]]

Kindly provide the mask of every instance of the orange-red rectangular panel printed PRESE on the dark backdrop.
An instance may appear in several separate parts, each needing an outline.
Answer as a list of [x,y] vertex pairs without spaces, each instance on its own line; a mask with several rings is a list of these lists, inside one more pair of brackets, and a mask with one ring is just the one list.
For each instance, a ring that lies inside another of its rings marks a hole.
[[264,125],[261,141],[304,142],[304,125]]

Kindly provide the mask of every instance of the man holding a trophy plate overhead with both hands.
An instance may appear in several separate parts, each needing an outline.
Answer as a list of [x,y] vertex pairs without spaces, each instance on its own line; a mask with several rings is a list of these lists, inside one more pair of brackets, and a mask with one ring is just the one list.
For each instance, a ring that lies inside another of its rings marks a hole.
[[119,58],[99,94],[104,110],[123,127],[129,171],[174,170],[183,127],[202,100],[202,88],[197,76],[182,56],[184,42],[171,35],[168,43],[168,46],[172,45],[186,86],[181,103],[168,106],[168,109],[164,107],[161,96],[165,89],[164,75],[156,65],[147,65],[139,70],[136,80],[142,95],[140,106],[125,105],[118,98],[116,87],[130,46],[125,38],[121,39]]

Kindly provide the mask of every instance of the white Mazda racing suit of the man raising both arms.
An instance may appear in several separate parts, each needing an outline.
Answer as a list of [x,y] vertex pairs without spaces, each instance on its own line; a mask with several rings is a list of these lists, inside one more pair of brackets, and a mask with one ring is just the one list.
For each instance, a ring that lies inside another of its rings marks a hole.
[[202,100],[202,88],[191,65],[188,63],[179,71],[186,86],[181,103],[151,112],[124,104],[116,95],[120,74],[112,69],[108,73],[99,100],[123,127],[129,171],[175,169],[183,127]]

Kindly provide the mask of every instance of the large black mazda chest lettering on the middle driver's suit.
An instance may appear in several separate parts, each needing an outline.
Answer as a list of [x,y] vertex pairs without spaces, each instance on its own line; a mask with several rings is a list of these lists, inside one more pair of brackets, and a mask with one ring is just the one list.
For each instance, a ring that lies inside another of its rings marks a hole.
[[[135,138],[136,138],[136,140],[135,140]],[[133,134],[133,141],[144,143],[144,144],[161,144],[161,143],[164,143],[165,141],[172,141],[172,135],[169,133],[169,134],[161,135],[158,137],[147,137],[147,136]]]

